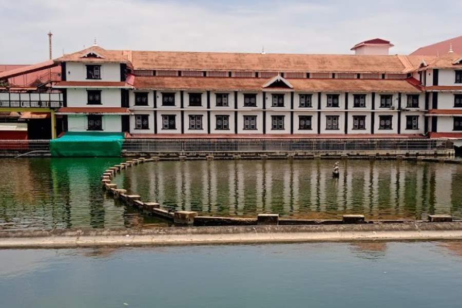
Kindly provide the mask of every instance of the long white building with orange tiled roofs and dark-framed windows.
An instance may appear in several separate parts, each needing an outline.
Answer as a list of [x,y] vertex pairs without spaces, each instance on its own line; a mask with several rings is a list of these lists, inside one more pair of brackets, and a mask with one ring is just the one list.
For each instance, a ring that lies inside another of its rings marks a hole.
[[462,139],[462,56],[450,46],[439,56],[388,55],[392,46],[374,39],[356,54],[282,54],[94,45],[54,59],[56,131]]

